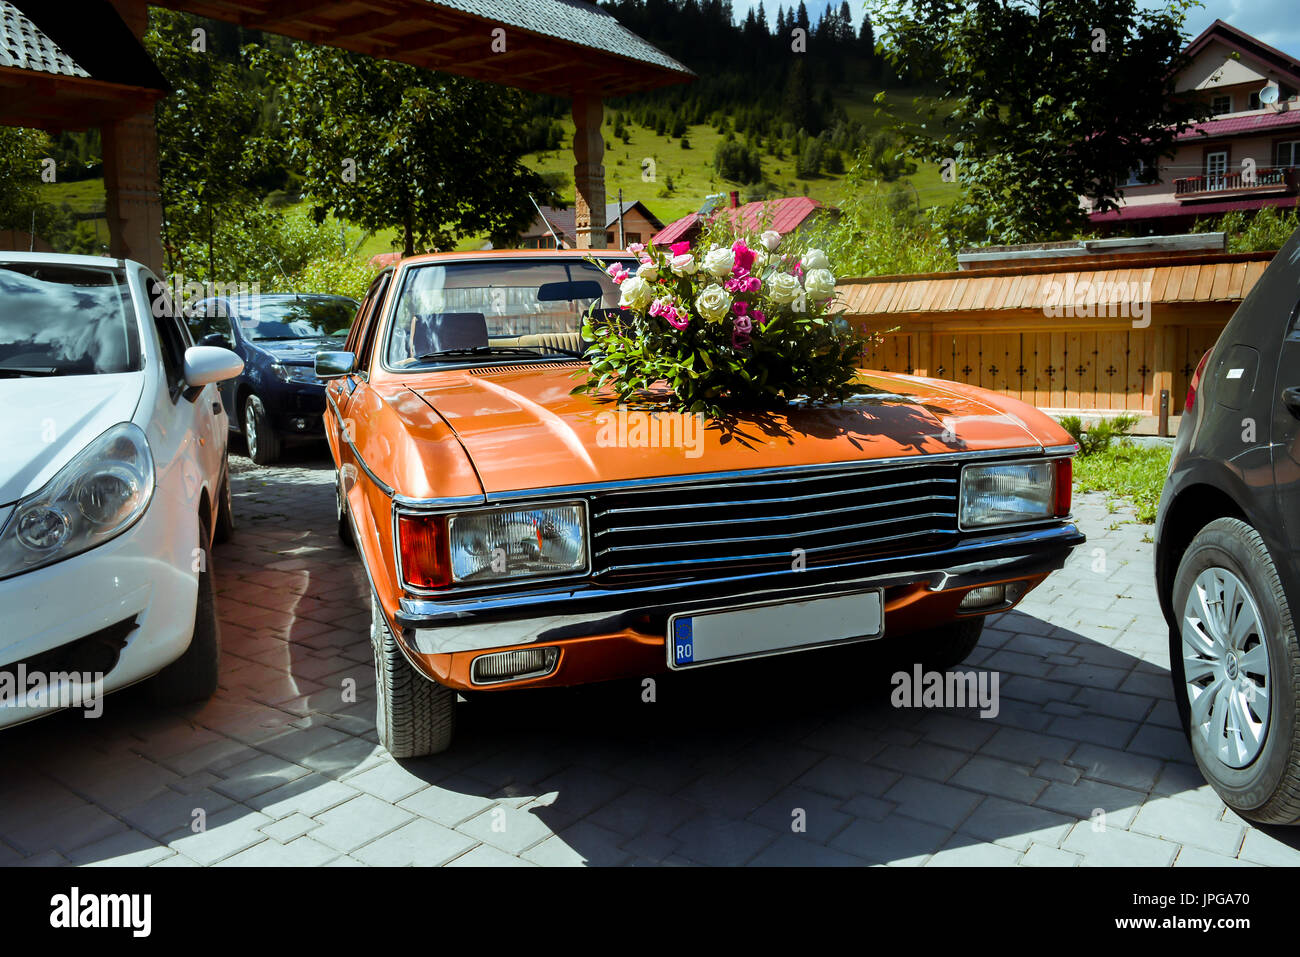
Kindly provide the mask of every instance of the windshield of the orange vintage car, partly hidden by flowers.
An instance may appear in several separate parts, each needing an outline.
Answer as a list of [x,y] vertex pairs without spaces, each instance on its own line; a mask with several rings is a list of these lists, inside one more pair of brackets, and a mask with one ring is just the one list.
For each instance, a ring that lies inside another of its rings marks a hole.
[[465,355],[581,355],[582,316],[618,308],[619,287],[578,259],[489,259],[413,267],[389,330],[387,364]]

